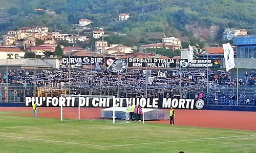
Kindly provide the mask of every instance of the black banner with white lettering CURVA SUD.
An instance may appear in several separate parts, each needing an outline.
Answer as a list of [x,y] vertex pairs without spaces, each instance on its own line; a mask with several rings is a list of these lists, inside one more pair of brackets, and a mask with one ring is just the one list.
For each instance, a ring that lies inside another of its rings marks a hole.
[[83,56],[83,57],[62,57],[62,64],[68,65],[94,65],[95,63],[102,64],[103,57],[90,57],[90,56]]

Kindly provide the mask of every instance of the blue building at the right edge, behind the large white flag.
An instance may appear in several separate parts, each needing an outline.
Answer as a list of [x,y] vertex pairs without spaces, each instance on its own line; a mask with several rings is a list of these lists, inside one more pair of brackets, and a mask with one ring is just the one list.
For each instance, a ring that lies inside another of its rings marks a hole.
[[256,35],[234,37],[238,58],[256,58]]

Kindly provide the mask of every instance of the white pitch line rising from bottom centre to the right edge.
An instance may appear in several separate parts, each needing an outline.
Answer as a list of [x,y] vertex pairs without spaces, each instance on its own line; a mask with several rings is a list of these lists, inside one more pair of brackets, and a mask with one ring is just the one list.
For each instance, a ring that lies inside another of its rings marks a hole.
[[122,147],[122,146],[134,146],[134,145],[147,145],[147,144],[171,143],[171,142],[186,142],[186,141],[214,140],[214,139],[237,138],[237,137],[246,137],[246,136],[256,136],[256,135],[215,137],[215,138],[201,138],[201,139],[187,139],[187,140],[174,140],[174,141],[160,141],[160,142],[148,142],[148,143],[137,143],[137,144],[121,144],[121,145],[111,145],[111,146],[106,146],[106,147]]

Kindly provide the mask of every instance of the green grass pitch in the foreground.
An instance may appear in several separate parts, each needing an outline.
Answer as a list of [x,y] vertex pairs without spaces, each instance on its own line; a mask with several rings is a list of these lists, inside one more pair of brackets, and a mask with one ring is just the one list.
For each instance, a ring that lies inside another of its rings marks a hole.
[[256,132],[245,130],[7,113],[0,113],[0,152],[256,152]]

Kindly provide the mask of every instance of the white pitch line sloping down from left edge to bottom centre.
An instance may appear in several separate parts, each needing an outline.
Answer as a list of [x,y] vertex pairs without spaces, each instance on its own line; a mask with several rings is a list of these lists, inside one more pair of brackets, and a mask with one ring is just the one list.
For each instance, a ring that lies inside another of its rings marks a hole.
[[48,141],[48,142],[67,143],[67,144],[76,144],[76,145],[88,145],[88,146],[95,146],[95,147],[105,147],[103,145],[76,143],[76,142],[67,142],[67,141],[57,141],[57,140],[48,140],[48,139],[26,138],[26,137],[16,137],[16,136],[6,136],[6,135],[0,135],[0,136],[9,137],[9,138],[27,139],[27,140],[38,140],[38,141]]

